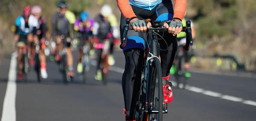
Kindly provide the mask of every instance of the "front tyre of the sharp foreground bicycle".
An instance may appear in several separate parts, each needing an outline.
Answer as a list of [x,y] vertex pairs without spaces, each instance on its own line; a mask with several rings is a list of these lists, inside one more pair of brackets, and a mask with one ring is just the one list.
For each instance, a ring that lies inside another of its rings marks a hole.
[[[149,102],[148,104],[152,104],[152,109],[156,109],[155,107],[157,107],[158,109],[158,114],[151,114],[148,115],[148,118],[146,118],[145,121],[149,121],[149,119],[151,119],[151,121],[163,121],[163,83],[162,83],[162,69],[161,69],[161,63],[160,60],[158,58],[154,58],[153,62],[154,64],[152,64],[152,73],[151,73],[151,78],[150,78],[150,82],[151,82],[151,89],[150,89],[150,96],[149,96]],[[158,80],[158,81],[157,81]],[[158,83],[157,83],[158,82]],[[157,106],[154,106],[154,101],[157,101],[156,98],[154,97],[155,95],[155,88],[157,85],[157,92],[158,92],[158,104]],[[151,106],[149,106],[151,107]],[[153,120],[153,116],[154,115],[154,120]],[[157,118],[157,119],[156,119]]]

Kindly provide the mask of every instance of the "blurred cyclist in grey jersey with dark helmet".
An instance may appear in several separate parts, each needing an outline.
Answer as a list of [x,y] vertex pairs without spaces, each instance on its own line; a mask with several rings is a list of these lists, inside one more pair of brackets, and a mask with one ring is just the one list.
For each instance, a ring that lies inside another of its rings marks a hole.
[[73,77],[73,55],[71,52],[71,43],[67,43],[66,40],[62,40],[61,36],[67,39],[70,37],[69,32],[69,22],[65,17],[65,13],[67,11],[67,3],[64,1],[58,2],[58,9],[55,14],[52,15],[52,36],[55,37],[56,40],[56,49],[57,55],[55,60],[59,61],[61,59],[60,51],[63,49],[63,46],[66,46],[66,54],[67,54],[67,65],[68,65],[68,75]]

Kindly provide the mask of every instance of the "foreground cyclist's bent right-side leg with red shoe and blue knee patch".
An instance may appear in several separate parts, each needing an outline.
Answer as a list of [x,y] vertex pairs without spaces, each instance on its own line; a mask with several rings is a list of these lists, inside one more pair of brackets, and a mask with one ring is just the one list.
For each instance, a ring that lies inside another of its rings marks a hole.
[[[172,1],[165,0],[157,7],[152,20],[172,20],[172,17]],[[163,35],[163,33],[160,33],[160,35]],[[164,33],[163,38],[166,40],[166,42],[163,39],[159,39],[158,42],[160,44],[160,48],[164,49],[160,51],[164,102],[169,103],[173,98],[172,89],[168,89],[170,86],[172,86],[172,84],[169,82],[169,72],[177,52],[177,40],[176,36],[168,34],[167,32]]]

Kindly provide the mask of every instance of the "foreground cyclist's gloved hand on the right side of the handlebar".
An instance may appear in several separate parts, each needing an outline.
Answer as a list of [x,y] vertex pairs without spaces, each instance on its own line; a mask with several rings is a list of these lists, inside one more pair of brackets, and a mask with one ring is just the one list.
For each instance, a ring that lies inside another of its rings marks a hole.
[[180,20],[169,20],[166,21],[163,26],[168,28],[168,33],[171,33],[173,36],[180,34],[182,31],[183,24]]

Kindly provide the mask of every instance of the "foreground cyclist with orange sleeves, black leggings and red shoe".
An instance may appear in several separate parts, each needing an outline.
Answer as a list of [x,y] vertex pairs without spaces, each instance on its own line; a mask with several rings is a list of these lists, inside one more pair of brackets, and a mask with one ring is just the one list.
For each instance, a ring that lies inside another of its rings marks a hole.
[[[122,76],[122,89],[124,95],[126,121],[135,121],[136,97],[138,97],[141,84],[141,69],[144,57],[144,45],[146,30],[151,26],[145,19],[160,20],[167,28],[166,32],[160,33],[166,40],[159,40],[163,98],[165,103],[172,101],[173,94],[170,87],[169,71],[172,67],[177,52],[176,35],[182,30],[181,20],[186,11],[186,0],[174,0],[174,8],[171,0],[116,0],[122,13],[120,23],[120,35],[122,38],[125,18],[130,18],[134,30],[129,30],[127,43],[123,49],[125,55],[125,71]],[[135,93],[134,93],[135,92]]]

